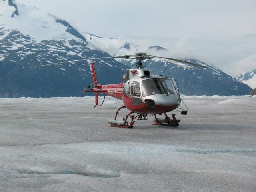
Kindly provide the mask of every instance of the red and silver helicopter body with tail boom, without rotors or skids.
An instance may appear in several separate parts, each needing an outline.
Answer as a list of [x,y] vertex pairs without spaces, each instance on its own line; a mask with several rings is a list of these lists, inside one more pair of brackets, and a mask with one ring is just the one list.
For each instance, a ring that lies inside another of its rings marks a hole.
[[166,113],[180,105],[176,82],[165,76],[134,76],[125,83],[100,85],[98,89],[122,100],[128,110],[136,113]]

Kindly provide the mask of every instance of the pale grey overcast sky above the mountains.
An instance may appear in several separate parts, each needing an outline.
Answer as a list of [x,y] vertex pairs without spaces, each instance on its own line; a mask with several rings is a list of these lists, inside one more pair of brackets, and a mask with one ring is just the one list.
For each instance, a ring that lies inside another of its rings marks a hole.
[[79,31],[191,54],[232,76],[256,69],[256,0],[16,2],[50,12]]

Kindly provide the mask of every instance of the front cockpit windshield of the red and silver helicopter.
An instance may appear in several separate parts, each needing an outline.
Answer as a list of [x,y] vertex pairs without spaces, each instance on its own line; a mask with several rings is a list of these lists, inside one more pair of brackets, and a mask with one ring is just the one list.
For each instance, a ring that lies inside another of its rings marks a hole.
[[172,82],[166,78],[154,78],[142,81],[142,95],[177,94]]

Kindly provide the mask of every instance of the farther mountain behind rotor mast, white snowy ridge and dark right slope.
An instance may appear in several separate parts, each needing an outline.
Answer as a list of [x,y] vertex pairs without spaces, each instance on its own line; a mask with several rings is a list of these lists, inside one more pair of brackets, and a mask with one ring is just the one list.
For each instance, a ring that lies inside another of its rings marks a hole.
[[[124,42],[121,39],[110,39],[83,33],[89,44],[99,47],[109,52],[112,56],[134,54],[136,52],[147,52],[151,55],[171,57],[168,49],[152,45],[142,47],[132,43]],[[111,52],[111,50],[114,50]],[[186,95],[245,95],[252,90],[249,86],[232,78],[214,65],[196,59],[184,59],[208,66],[207,69],[194,67],[193,69],[183,69],[159,59],[148,60],[145,67],[152,68],[154,74],[163,74],[173,77],[180,88],[180,92]],[[118,61],[129,67],[134,67],[134,60],[118,59]]]

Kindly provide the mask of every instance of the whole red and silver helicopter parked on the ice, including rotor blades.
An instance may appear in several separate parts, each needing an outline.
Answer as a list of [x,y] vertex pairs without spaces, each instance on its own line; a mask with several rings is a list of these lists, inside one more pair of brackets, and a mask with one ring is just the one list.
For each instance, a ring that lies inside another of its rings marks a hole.
[[[120,128],[133,128],[135,120],[148,120],[148,115],[154,115],[153,125],[163,125],[163,126],[178,126],[180,119],[172,114],[170,118],[166,113],[174,110],[182,110],[182,115],[188,113],[188,108],[186,104],[180,97],[180,92],[174,78],[168,78],[164,75],[154,75],[152,70],[144,68],[142,61],[147,59],[161,59],[166,61],[175,61],[173,64],[181,66],[183,68],[192,68],[191,66],[184,65],[190,64],[193,66],[200,66],[202,68],[208,68],[206,66],[195,64],[192,62],[178,60],[174,58],[151,56],[146,53],[136,53],[134,55],[124,55],[124,56],[113,56],[113,57],[101,57],[101,58],[87,58],[80,60],[72,60],[65,62],[58,62],[52,64],[45,64],[39,66],[32,66],[28,68],[36,68],[42,66],[64,64],[69,62],[78,62],[83,60],[98,60],[98,59],[109,59],[109,58],[124,58],[124,59],[135,59],[136,69],[126,69],[126,73],[123,76],[124,83],[119,84],[108,84],[102,85],[98,83],[96,70],[94,62],[91,62],[92,78],[93,83],[84,88],[84,93],[95,93],[95,106],[102,106],[104,103],[106,95],[114,97],[116,99],[122,100],[124,106],[118,108],[116,111],[114,119],[108,120],[108,126],[120,127]],[[88,90],[90,89],[90,90]],[[104,94],[104,99],[101,104],[98,104],[99,94]],[[186,109],[179,108],[181,102],[183,102]],[[118,112],[122,108],[127,108],[130,113],[128,113],[121,120],[117,119]],[[156,115],[164,115],[164,118],[159,118]],[[128,122],[128,118],[130,120]]]

